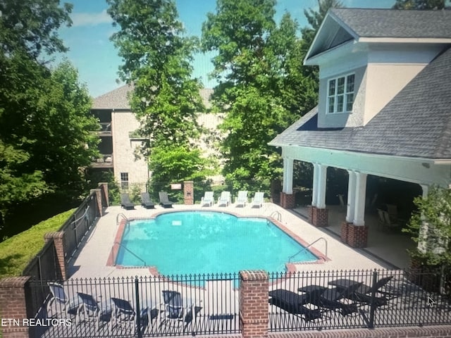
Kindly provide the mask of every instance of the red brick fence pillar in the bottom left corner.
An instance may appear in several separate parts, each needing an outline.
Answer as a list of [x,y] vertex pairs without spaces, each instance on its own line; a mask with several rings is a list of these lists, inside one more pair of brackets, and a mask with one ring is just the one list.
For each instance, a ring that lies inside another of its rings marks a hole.
[[24,320],[32,317],[27,313],[27,299],[30,301],[32,298],[29,280],[27,276],[0,280],[0,330],[3,338],[30,337],[29,328],[24,326]]

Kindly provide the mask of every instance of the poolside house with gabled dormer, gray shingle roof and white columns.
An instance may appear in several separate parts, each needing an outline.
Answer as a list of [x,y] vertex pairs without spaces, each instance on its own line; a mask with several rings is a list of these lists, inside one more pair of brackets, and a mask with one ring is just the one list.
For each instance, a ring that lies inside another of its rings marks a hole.
[[366,178],[451,183],[451,11],[332,8],[304,65],[319,66],[319,104],[270,144],[283,156],[285,208],[293,161],[314,166],[311,222],[327,225],[328,167],[349,173],[342,232],[366,246]]

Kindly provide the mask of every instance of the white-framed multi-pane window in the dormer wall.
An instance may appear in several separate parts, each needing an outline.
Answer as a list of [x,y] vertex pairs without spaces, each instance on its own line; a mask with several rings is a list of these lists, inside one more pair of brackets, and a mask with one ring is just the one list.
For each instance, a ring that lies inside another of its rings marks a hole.
[[354,74],[336,77],[328,82],[328,113],[352,113]]

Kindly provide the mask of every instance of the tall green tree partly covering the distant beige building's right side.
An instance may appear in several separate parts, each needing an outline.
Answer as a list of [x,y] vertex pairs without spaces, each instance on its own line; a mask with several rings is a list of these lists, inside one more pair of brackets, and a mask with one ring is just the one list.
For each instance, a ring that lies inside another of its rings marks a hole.
[[172,0],[107,0],[120,30],[111,40],[123,58],[121,79],[133,84],[132,111],[142,121],[148,156],[154,146],[187,144],[198,137],[200,84],[191,78],[196,40],[183,36]]

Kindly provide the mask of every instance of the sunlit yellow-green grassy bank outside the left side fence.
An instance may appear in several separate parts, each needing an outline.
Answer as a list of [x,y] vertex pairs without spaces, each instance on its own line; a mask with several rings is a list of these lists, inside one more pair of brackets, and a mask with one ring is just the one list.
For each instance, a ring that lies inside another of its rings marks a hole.
[[0,243],[0,279],[19,276],[44,246],[44,234],[57,231],[75,209],[55,215]]

